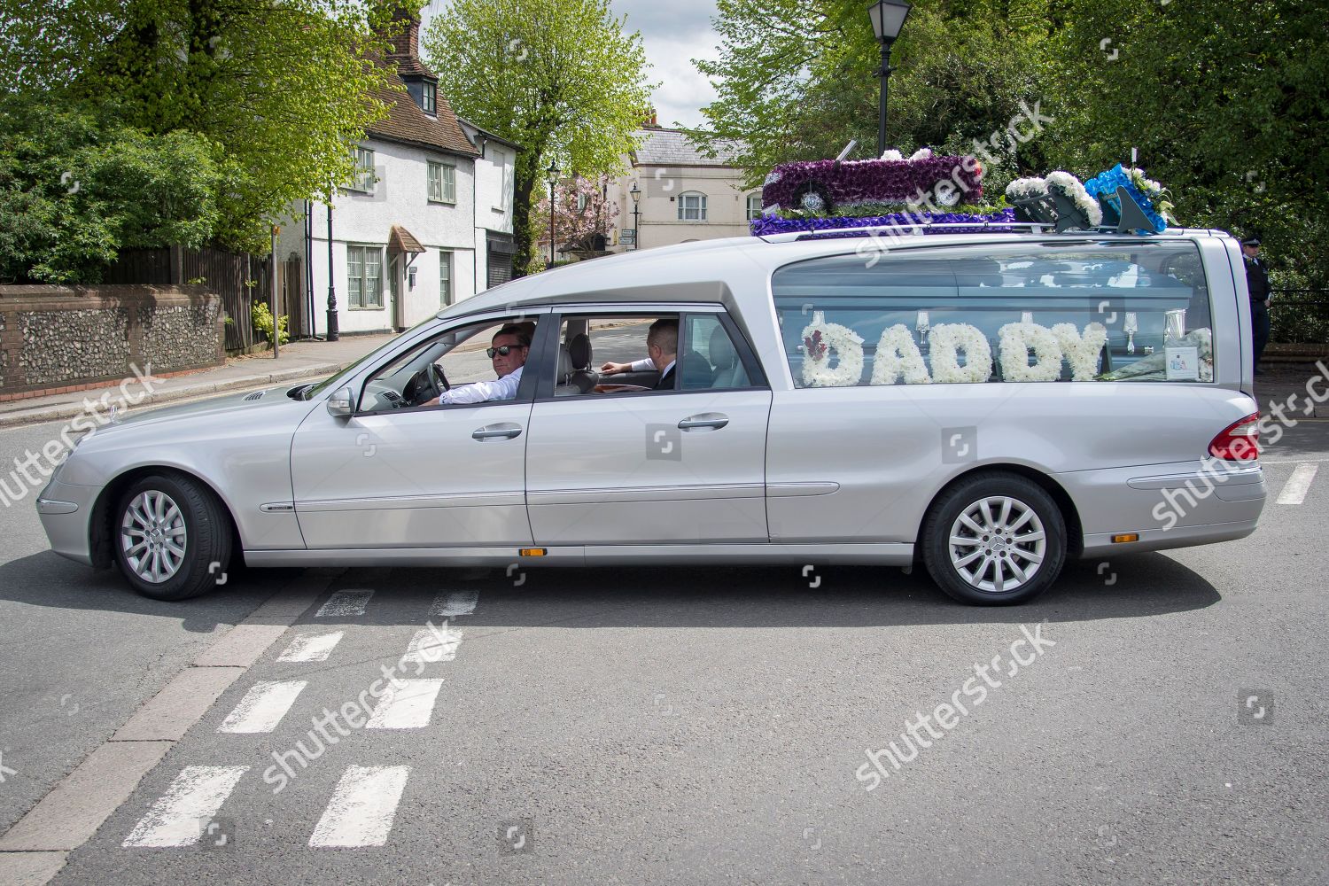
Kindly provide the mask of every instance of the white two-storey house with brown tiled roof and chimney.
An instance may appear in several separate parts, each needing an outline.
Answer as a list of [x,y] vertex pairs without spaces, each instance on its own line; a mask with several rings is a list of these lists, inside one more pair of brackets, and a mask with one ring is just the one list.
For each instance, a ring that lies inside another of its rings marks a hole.
[[389,114],[354,147],[359,175],[338,189],[331,235],[320,202],[292,207],[282,228],[276,255],[300,258],[304,275],[303,310],[288,306],[296,335],[327,333],[330,286],[339,332],[384,332],[512,276],[518,146],[457,118],[417,40],[413,20],[388,56],[405,92],[379,96]]

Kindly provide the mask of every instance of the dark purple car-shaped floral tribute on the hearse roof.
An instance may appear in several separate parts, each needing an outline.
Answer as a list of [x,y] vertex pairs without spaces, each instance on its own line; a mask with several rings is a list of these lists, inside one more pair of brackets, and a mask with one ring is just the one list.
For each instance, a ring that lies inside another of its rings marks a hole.
[[856,206],[894,203],[949,209],[982,197],[982,165],[970,155],[938,155],[930,147],[908,159],[888,150],[880,159],[819,159],[780,163],[766,177],[766,211],[847,214]]

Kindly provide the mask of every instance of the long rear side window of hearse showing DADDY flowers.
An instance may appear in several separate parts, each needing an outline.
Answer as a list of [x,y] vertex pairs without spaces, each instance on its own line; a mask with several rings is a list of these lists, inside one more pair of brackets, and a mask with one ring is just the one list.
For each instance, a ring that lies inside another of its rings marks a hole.
[[772,290],[800,388],[1213,381],[1189,242],[836,255],[780,268]]

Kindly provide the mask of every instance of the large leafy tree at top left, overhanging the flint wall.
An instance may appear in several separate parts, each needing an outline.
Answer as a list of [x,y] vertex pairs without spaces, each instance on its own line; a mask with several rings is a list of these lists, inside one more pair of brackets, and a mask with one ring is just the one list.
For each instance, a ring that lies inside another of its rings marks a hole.
[[[105,133],[126,143],[193,139],[206,159],[189,162],[206,173],[215,203],[203,239],[262,252],[270,224],[292,202],[351,177],[350,142],[385,113],[387,72],[375,58],[401,1],[0,0],[0,110],[25,120],[90,108]],[[13,133],[0,133],[0,155],[12,151]],[[56,183],[44,181],[43,193],[69,203]],[[117,199],[94,193],[100,186],[89,175],[81,199]],[[134,199],[125,190],[118,197]],[[161,246],[159,238],[197,232],[166,222],[140,226],[155,242],[132,242]],[[0,228],[11,224],[19,223],[0,221]],[[130,244],[94,239],[112,252]],[[88,258],[96,264],[106,248]]]

